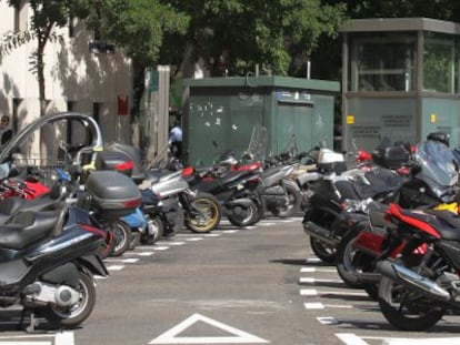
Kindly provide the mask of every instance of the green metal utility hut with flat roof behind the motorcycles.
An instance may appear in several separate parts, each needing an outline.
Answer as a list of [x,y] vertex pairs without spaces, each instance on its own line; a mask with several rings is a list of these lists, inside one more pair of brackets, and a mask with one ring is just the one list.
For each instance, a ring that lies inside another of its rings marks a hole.
[[333,145],[339,82],[287,77],[189,79],[183,130],[186,161],[209,165],[226,150],[248,149],[256,124],[267,129],[266,155]]

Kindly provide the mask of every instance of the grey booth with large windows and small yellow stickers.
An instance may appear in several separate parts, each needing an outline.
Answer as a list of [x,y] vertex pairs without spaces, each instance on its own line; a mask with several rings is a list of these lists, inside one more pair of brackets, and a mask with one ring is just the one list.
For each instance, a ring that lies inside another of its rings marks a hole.
[[430,132],[459,145],[460,24],[427,18],[358,19],[342,29],[342,149]]

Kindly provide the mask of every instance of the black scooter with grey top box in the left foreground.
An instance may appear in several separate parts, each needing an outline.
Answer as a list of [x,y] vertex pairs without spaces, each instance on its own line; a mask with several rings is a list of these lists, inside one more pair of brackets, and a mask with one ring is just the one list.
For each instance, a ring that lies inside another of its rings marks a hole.
[[[0,225],[0,307],[22,305],[58,327],[76,327],[96,303],[93,275],[108,271],[98,251],[106,239],[97,219],[118,219],[140,204],[136,184],[118,172],[93,172],[74,205],[19,211]],[[91,210],[91,211],[90,211]]]

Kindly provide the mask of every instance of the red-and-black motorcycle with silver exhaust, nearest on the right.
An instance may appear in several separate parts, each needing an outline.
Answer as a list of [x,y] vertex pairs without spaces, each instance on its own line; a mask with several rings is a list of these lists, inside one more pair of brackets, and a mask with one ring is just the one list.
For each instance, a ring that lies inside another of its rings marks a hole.
[[[386,212],[389,245],[376,264],[382,275],[379,306],[399,329],[426,331],[460,303],[460,222],[439,210],[406,210],[391,204]],[[389,253],[398,246],[399,255]]]

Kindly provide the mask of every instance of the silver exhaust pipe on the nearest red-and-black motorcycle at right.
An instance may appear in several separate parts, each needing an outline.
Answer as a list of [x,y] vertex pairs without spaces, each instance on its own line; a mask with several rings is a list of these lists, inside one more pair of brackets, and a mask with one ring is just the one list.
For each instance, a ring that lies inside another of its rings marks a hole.
[[438,300],[451,300],[449,292],[439,286],[436,282],[394,262],[384,260],[378,262],[376,267],[382,275],[388,276],[398,283],[418,288]]

